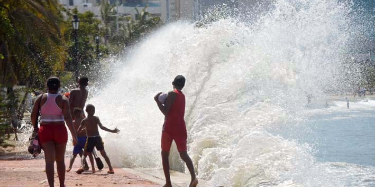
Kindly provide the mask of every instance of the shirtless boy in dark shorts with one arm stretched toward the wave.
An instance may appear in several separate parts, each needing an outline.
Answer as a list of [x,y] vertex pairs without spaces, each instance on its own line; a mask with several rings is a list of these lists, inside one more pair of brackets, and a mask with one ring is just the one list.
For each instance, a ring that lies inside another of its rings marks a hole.
[[[79,132],[85,127],[86,128],[86,134],[87,134],[87,142],[86,142],[85,151],[83,153],[83,157],[82,157],[82,160],[81,160],[81,163],[82,163],[81,166],[84,165],[84,162],[86,160],[86,156],[89,153],[92,153],[92,151],[94,150],[94,147],[96,147],[96,150],[100,151],[100,153],[102,154],[102,156],[105,159],[105,162],[107,162],[108,167],[110,168],[107,173],[108,174],[114,174],[115,172],[113,171],[111,161],[108,158],[107,153],[105,153],[104,143],[103,143],[102,138],[99,135],[98,126],[104,131],[117,133],[117,134],[118,134],[118,132],[120,132],[120,130],[118,130],[117,128],[114,128],[113,130],[111,130],[111,129],[108,129],[105,126],[103,126],[102,123],[99,120],[99,117],[94,116],[94,114],[95,114],[94,105],[88,104],[86,106],[86,112],[87,112],[87,117],[82,120],[81,125],[77,130]],[[83,171],[84,171],[84,168],[81,167],[80,169],[77,170],[77,173],[81,174]]]

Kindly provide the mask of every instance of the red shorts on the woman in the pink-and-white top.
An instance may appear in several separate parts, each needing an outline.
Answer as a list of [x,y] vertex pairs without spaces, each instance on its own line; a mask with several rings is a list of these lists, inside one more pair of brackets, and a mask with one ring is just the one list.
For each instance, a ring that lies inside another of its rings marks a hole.
[[53,141],[58,144],[66,144],[68,142],[68,131],[65,125],[47,124],[39,128],[40,144]]

